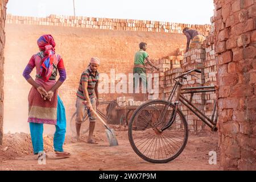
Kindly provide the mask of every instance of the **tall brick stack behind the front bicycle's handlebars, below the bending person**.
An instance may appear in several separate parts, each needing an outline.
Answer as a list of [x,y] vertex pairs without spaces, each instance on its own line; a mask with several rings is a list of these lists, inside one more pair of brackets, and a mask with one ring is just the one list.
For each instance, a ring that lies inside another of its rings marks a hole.
[[[194,87],[194,86],[204,86],[204,62],[205,62],[205,49],[196,48],[191,49],[188,52],[184,53],[184,59],[181,63],[181,67],[183,68],[183,72],[187,72],[191,69],[200,69],[200,73],[192,73],[195,76],[187,76],[187,80],[184,80],[184,88]],[[190,94],[184,94],[184,97],[189,100]],[[204,111],[205,104],[205,93],[195,93],[193,94],[192,104],[195,105],[200,111]],[[189,130],[198,131],[203,129],[204,124],[201,120],[192,113],[192,111],[188,110],[187,107],[181,105],[181,110],[183,111],[187,122]]]

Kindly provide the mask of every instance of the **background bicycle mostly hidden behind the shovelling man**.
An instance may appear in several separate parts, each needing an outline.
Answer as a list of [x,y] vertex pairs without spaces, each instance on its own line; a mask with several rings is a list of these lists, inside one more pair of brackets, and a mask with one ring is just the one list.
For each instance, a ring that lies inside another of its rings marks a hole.
[[[102,100],[102,98],[100,98],[100,100]],[[100,109],[100,107],[97,107],[97,113],[105,119],[106,123],[110,123],[113,121],[113,115],[114,115],[114,111],[115,108],[119,107],[119,105],[117,104],[116,101],[100,101],[100,105],[108,105],[106,106],[106,113]],[[88,117],[88,113],[87,113],[87,109],[85,108],[84,111],[84,117],[82,117],[82,125],[81,125],[81,129],[80,129],[80,133],[81,134],[86,134],[89,131],[89,117]],[[75,113],[72,115],[71,119],[70,119],[70,128],[72,131],[72,134],[76,134],[76,111]]]

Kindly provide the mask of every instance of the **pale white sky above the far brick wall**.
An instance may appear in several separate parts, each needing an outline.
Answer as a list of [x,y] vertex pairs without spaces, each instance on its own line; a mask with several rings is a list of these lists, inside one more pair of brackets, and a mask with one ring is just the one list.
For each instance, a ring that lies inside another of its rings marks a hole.
[[[213,0],[75,0],[77,16],[210,24]],[[9,0],[7,13],[46,17],[73,15],[73,0]]]

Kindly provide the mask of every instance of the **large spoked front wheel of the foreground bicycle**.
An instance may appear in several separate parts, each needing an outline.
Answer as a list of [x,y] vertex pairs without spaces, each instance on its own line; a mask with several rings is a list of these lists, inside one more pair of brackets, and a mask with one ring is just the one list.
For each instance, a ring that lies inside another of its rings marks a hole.
[[179,109],[172,125],[159,132],[170,121],[174,109],[175,105],[168,101],[153,100],[134,111],[129,121],[128,135],[131,147],[142,159],[151,163],[167,163],[184,150],[188,125]]

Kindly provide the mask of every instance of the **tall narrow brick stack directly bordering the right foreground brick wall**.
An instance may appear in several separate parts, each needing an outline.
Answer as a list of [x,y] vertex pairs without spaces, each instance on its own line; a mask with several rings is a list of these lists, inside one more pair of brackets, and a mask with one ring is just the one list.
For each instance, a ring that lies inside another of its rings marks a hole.
[[[209,36],[207,36],[206,40],[204,41],[203,48],[205,49],[204,86],[216,86],[217,65],[216,65],[216,59],[215,59],[213,34],[210,34]],[[216,100],[215,92],[205,93],[204,114],[207,115],[208,117],[211,117],[212,115],[215,100]],[[206,129],[209,129],[209,127],[206,127]]]

